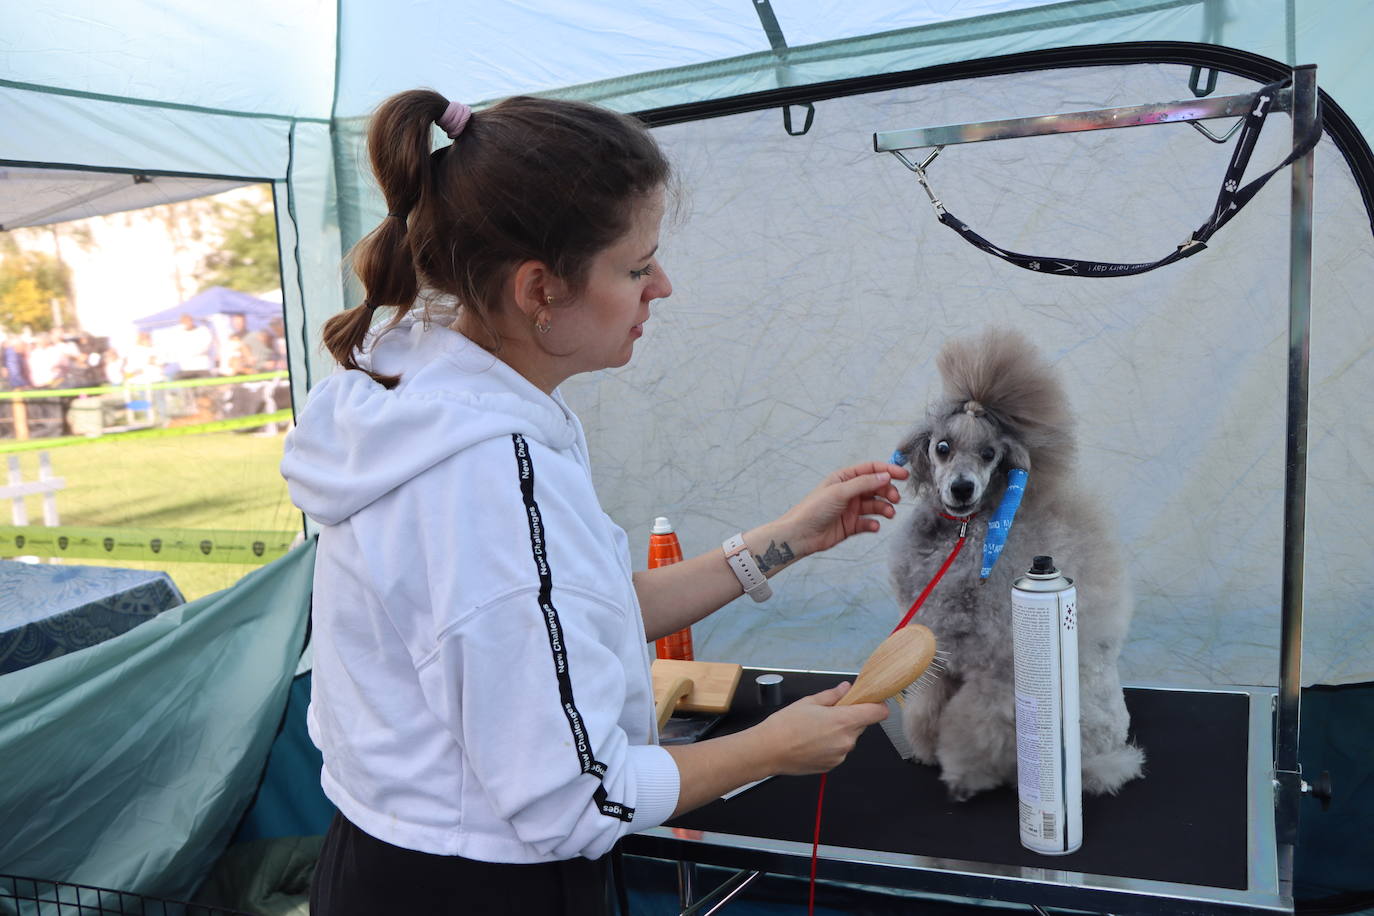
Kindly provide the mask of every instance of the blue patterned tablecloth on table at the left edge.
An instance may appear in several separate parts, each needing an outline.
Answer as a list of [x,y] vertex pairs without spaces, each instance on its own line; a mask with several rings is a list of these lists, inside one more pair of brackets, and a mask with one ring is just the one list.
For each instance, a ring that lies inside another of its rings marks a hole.
[[184,602],[166,573],[0,560],[0,674],[95,645]]

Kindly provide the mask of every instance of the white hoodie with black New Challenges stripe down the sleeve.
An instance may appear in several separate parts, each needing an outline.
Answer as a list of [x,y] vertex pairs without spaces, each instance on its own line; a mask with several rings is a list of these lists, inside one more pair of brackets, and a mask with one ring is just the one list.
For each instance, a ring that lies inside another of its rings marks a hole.
[[493,862],[610,850],[657,827],[657,746],[625,533],[581,424],[462,334],[404,321],[286,439],[319,522],[311,737],[324,794],[394,846]]

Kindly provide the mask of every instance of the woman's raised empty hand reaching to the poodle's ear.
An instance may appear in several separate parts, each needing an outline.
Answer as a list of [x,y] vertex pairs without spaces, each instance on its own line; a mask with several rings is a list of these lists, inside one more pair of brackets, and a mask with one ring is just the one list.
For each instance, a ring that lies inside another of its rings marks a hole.
[[877,531],[881,515],[896,515],[901,494],[893,479],[911,477],[907,468],[886,461],[864,461],[827,475],[820,486],[790,508],[778,523],[787,531],[798,556],[827,551],[852,534]]

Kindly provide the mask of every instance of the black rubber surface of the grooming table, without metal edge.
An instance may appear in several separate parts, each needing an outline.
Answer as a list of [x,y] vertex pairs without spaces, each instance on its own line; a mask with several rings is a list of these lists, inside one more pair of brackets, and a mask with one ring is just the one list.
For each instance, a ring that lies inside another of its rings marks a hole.
[[[760,706],[745,669],[714,735],[747,728]],[[841,680],[783,672],[791,702]],[[830,773],[820,842],[963,862],[1021,865],[1121,878],[1246,889],[1249,703],[1246,694],[1128,688],[1131,735],[1145,748],[1143,779],[1117,795],[1084,797],[1083,847],[1041,856],[1021,846],[1014,787],[947,798],[938,770],[903,761],[881,728],[860,737]],[[819,777],[775,777],[669,827],[811,843]],[[824,864],[822,864],[822,871]]]

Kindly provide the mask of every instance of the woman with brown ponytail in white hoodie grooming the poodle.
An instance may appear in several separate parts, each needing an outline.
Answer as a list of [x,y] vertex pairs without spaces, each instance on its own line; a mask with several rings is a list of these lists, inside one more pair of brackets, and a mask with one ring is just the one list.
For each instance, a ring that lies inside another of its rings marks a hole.
[[[434,124],[452,143],[431,152]],[[356,251],[367,298],[324,328],[350,371],[311,393],[282,463],[322,525],[309,726],[339,817],[312,913],[605,912],[622,835],[829,770],[883,718],[835,707],[840,685],[665,748],[647,645],[877,530],[907,472],[837,471],[723,551],[632,573],[558,386],[624,365],[672,293],[657,144],[594,106],[414,91],[368,146],[389,213]]]

